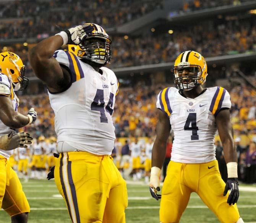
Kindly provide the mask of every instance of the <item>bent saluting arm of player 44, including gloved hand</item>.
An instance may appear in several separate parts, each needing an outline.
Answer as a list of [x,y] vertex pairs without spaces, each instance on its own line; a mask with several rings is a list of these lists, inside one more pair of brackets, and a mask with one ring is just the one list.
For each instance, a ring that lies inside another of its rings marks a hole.
[[60,66],[53,54],[66,44],[78,45],[93,31],[92,24],[66,29],[55,36],[42,40],[29,52],[29,61],[36,76],[51,92],[60,92],[70,84],[69,71]]

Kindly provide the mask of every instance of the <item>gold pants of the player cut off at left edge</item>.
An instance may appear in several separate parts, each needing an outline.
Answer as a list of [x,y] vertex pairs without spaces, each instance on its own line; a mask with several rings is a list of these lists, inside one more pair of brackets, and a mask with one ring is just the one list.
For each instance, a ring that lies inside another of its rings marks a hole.
[[0,208],[10,216],[30,211],[21,183],[9,161],[0,155]]

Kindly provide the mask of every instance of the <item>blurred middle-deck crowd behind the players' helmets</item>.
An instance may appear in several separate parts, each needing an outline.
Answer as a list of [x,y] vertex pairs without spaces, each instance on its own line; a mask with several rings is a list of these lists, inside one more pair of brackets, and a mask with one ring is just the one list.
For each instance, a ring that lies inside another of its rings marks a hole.
[[[228,21],[219,25],[203,23],[172,35],[128,39],[113,36],[112,39],[110,68],[137,66],[170,62],[178,52],[191,49],[205,57],[256,52],[256,23],[255,20]],[[2,50],[16,52],[27,67],[27,75],[33,76],[27,57],[29,46],[16,44]]]

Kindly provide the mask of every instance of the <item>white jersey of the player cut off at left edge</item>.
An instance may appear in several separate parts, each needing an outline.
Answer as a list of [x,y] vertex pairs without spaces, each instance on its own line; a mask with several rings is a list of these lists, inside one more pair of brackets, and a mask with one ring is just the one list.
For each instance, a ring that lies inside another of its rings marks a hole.
[[[7,86],[9,90],[7,89],[6,92],[1,91],[0,94],[5,95],[7,97],[11,97],[11,102],[13,104],[13,108],[15,109],[15,111],[17,111],[18,110],[18,105],[19,105],[19,100],[18,100],[18,97],[14,93],[11,81],[5,74],[0,73],[0,85],[2,85],[2,84]],[[1,112],[1,108],[0,108],[0,112]],[[16,133],[16,129],[12,129],[12,128],[6,126],[0,120],[0,136],[3,136],[5,134],[9,134],[12,131],[13,131],[14,134]],[[2,155],[3,157],[9,158],[11,156],[11,154],[13,154],[13,150],[5,151],[5,150],[1,150],[1,148],[0,148],[0,155]]]

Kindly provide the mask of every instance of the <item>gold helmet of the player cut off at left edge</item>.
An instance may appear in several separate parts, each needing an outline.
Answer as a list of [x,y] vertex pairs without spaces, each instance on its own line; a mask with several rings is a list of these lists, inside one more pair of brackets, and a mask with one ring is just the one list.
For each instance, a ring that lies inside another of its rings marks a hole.
[[8,76],[14,90],[24,90],[28,87],[29,79],[24,76],[26,67],[21,58],[12,52],[0,53],[0,72]]

